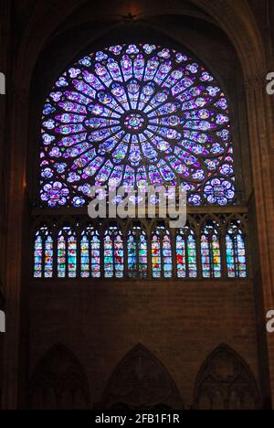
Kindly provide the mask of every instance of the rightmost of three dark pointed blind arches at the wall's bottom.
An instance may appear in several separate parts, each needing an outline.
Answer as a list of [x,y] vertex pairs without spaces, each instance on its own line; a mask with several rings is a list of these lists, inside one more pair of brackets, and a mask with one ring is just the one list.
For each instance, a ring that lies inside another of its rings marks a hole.
[[195,410],[258,410],[254,375],[246,361],[227,345],[216,348],[199,371]]

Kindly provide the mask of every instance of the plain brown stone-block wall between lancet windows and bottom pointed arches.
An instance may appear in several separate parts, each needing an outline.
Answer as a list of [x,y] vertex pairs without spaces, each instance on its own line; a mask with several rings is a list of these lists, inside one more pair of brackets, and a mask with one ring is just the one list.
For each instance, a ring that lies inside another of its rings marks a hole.
[[30,374],[56,343],[68,347],[90,382],[91,403],[121,359],[142,343],[193,404],[205,358],[226,343],[258,380],[251,281],[34,281],[30,290]]

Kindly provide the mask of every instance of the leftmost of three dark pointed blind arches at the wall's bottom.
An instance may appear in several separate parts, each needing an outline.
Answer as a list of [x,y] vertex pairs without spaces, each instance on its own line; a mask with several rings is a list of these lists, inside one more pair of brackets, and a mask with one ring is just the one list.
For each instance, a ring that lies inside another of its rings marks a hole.
[[37,364],[29,387],[32,410],[88,410],[90,391],[78,358],[63,345],[49,349]]

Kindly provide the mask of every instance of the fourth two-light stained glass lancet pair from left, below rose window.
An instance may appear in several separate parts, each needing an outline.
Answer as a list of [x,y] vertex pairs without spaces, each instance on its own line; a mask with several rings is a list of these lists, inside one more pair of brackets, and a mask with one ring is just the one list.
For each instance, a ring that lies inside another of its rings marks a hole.
[[124,271],[124,242],[121,231],[110,227],[104,237],[104,273],[106,278],[122,278]]

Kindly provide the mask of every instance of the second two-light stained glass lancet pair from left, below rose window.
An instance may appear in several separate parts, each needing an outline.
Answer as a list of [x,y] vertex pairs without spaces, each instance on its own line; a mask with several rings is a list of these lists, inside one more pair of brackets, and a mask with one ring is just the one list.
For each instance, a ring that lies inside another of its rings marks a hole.
[[77,276],[77,239],[76,233],[64,227],[58,234],[58,278]]

